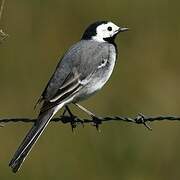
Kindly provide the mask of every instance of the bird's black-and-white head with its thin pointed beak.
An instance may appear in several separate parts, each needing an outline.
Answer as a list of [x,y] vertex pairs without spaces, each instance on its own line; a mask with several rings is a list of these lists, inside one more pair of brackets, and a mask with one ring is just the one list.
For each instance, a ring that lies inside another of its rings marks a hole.
[[82,39],[112,43],[117,34],[127,30],[128,28],[119,27],[110,21],[97,21],[85,30]]

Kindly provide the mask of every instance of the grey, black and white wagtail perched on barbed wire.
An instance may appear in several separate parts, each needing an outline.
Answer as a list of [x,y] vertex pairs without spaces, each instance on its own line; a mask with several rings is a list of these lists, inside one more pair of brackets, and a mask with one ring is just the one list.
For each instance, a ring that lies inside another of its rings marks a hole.
[[118,51],[115,38],[127,27],[111,21],[96,21],[84,31],[81,39],[60,58],[38,103],[42,103],[37,121],[13,155],[9,166],[16,173],[52,117],[63,107],[70,114],[75,104],[92,118],[95,115],[81,106],[80,101],[99,91],[110,78]]

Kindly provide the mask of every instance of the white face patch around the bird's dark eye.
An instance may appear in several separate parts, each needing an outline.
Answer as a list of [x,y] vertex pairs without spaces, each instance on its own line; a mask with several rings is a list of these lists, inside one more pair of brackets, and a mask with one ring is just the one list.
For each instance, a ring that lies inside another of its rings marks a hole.
[[112,22],[101,24],[96,28],[96,35],[92,39],[98,42],[105,42],[104,38],[113,37],[118,33],[118,30],[119,27]]

